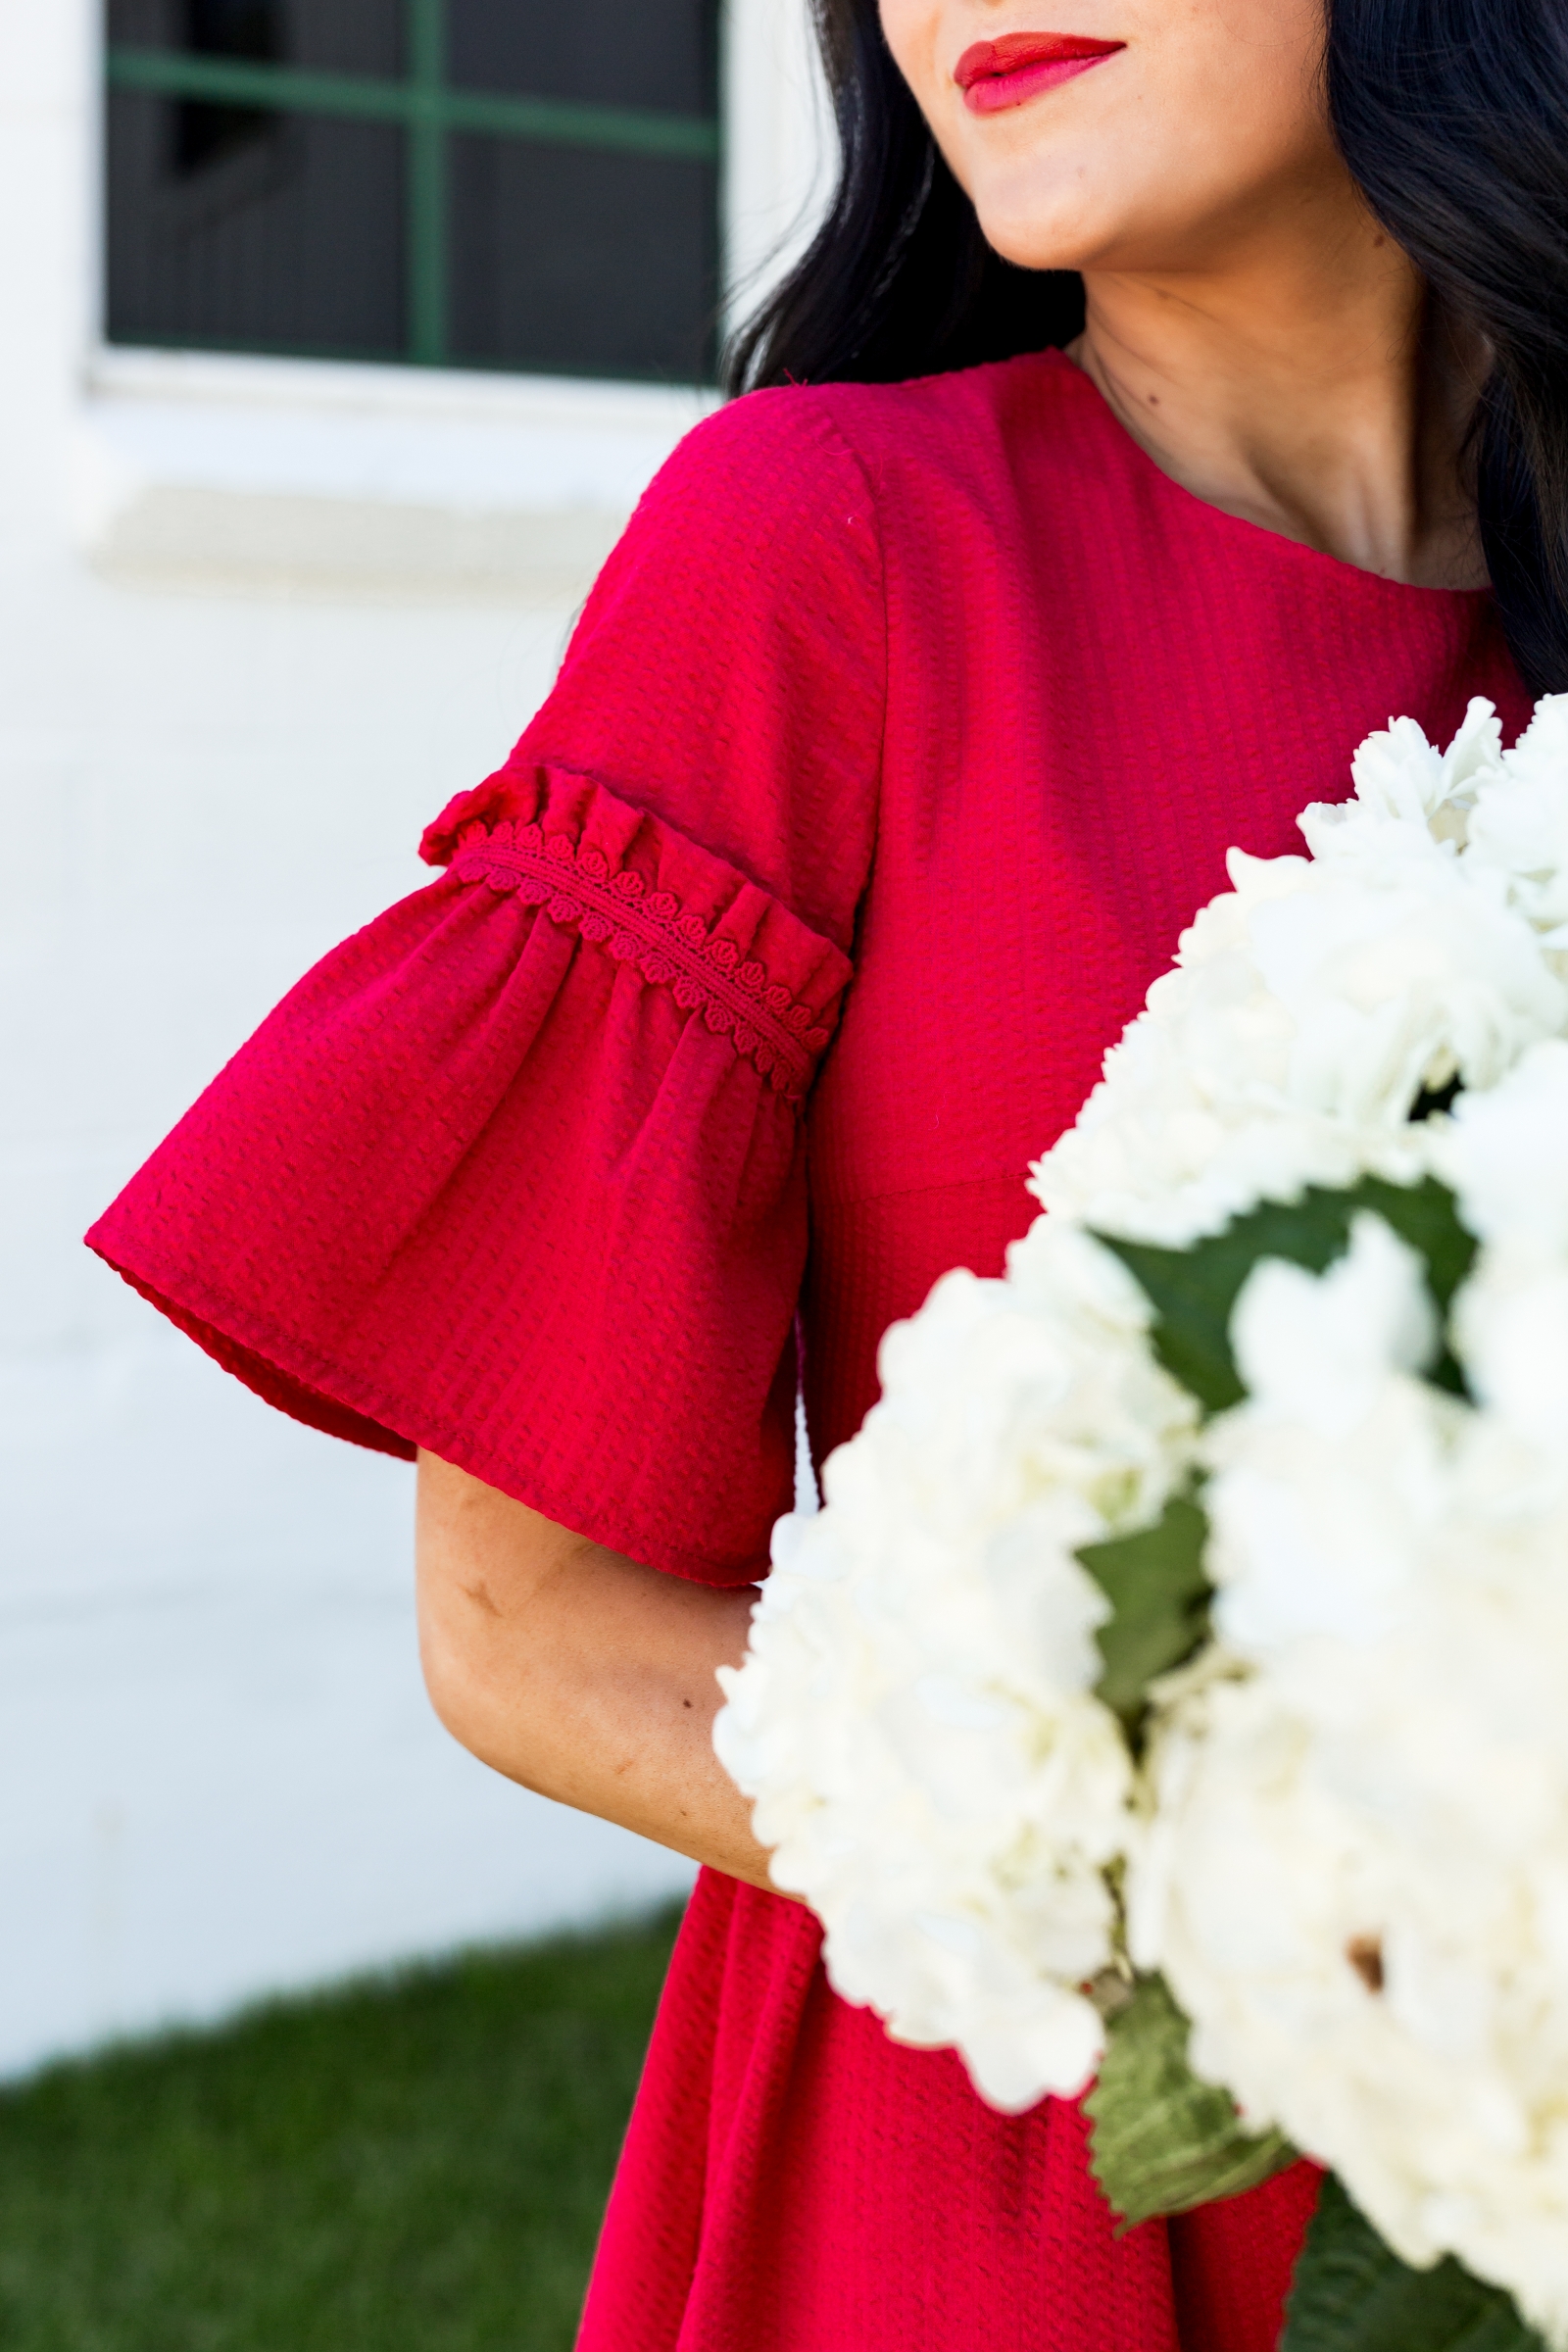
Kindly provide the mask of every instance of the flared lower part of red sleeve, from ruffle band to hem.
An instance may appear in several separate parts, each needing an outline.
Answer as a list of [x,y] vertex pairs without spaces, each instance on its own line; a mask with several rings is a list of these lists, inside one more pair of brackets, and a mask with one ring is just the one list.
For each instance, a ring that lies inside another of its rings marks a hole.
[[259,1395],[743,1583],[790,1503],[799,1105],[842,950],[590,776],[284,997],[89,1232]]

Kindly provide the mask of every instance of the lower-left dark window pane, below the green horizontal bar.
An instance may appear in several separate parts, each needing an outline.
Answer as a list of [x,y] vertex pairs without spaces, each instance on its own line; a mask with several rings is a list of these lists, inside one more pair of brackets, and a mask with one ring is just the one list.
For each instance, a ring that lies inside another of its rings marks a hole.
[[110,92],[108,334],[400,358],[402,132],[261,113],[193,153],[179,101]]

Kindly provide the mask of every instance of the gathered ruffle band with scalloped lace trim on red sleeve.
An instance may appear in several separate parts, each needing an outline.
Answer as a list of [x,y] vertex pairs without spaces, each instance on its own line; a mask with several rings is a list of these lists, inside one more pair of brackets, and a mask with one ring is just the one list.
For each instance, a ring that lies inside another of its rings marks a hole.
[[776,1094],[806,1094],[849,960],[658,818],[583,776],[501,769],[451,802],[421,856],[456,882],[517,891],[668,988]]

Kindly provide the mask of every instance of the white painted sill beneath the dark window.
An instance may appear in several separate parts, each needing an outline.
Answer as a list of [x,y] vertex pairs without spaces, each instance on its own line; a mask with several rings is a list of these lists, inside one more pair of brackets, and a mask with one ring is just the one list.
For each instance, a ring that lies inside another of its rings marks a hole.
[[127,586],[576,602],[715,393],[99,350],[78,536]]

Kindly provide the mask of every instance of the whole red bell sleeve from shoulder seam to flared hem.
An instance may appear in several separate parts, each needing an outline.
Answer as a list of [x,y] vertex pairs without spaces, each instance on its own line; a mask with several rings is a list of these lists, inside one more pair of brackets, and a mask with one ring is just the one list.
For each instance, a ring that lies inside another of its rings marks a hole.
[[89,1232],[270,1404],[745,1583],[788,1510],[802,1112],[875,830],[870,499],[811,395],[644,499],[555,696]]

